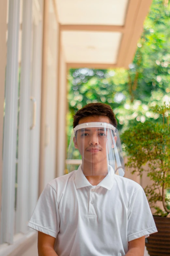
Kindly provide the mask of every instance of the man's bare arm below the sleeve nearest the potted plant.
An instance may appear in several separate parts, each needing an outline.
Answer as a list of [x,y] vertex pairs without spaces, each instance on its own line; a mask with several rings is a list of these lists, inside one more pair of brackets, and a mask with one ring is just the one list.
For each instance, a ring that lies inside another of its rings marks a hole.
[[125,256],[144,256],[145,236],[139,237],[129,242],[129,250]]

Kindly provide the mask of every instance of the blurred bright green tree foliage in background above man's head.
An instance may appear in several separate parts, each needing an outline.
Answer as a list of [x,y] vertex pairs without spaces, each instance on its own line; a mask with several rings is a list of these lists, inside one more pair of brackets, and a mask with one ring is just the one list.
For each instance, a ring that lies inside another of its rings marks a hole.
[[114,110],[118,129],[162,116],[149,110],[170,100],[170,5],[153,0],[130,69],[70,69],[68,102],[71,115],[90,102]]

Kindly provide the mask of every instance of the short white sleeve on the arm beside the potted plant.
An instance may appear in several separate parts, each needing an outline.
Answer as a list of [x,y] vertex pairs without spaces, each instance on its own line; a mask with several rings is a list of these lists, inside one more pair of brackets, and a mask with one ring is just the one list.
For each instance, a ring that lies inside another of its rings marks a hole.
[[128,206],[128,242],[157,232],[145,192],[140,187],[131,197]]

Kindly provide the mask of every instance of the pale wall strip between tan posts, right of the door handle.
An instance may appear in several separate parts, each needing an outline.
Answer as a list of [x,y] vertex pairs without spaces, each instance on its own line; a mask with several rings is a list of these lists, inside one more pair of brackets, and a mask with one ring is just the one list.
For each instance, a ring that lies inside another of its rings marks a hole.
[[58,47],[59,26],[56,21],[53,1],[49,1],[48,47],[47,47],[47,94],[45,123],[44,187],[56,178],[56,118],[58,93]]

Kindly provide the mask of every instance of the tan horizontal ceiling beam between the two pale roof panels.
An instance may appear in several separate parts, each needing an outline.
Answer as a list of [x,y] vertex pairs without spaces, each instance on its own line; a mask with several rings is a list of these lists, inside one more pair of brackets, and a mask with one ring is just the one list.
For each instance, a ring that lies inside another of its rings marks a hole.
[[61,31],[98,31],[98,32],[124,32],[124,26],[113,25],[62,25],[60,24]]

